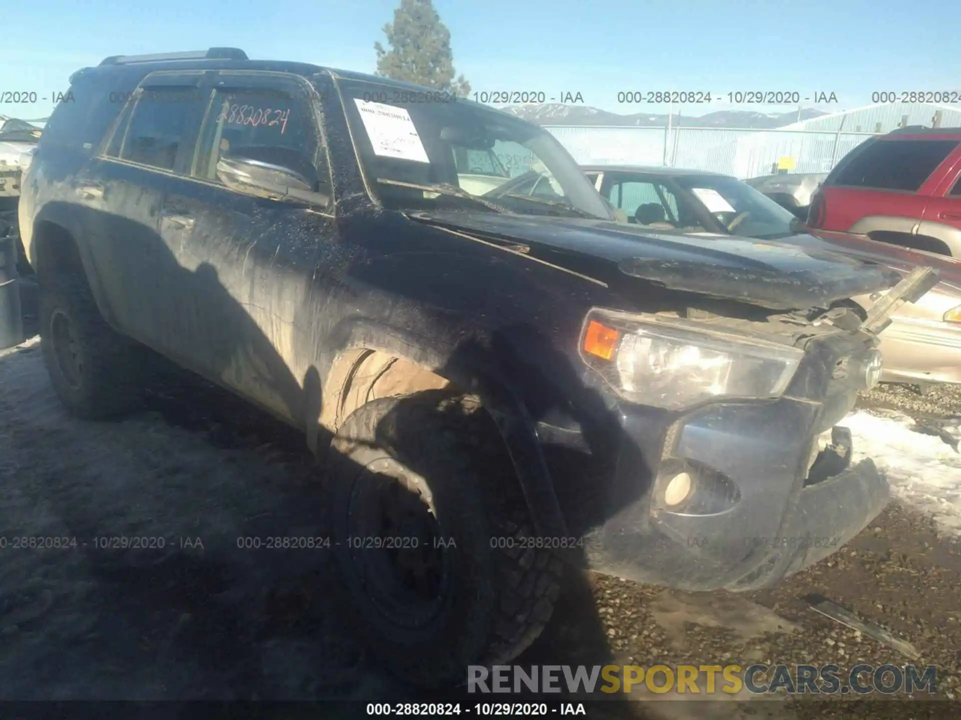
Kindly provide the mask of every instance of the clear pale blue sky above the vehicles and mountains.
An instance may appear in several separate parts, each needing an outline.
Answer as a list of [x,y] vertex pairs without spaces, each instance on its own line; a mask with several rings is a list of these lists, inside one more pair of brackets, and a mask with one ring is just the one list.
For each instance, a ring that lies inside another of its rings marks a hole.
[[[399,0],[46,0],[8,3],[0,93],[37,104],[0,114],[49,114],[74,70],[109,55],[243,48],[252,58],[304,60],[372,72],[373,44]],[[455,65],[473,91],[580,93],[615,112],[625,90],[836,93],[825,110],[871,103],[874,91],[961,91],[958,0],[434,0]],[[43,100],[45,98],[45,100]],[[0,100],[5,98],[0,95]],[[740,106],[776,111],[772,106]]]

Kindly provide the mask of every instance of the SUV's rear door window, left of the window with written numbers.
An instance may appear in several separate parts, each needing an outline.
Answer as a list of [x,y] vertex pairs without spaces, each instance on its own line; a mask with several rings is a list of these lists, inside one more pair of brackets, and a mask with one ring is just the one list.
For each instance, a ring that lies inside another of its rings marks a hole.
[[[188,119],[199,103],[196,88],[154,88],[143,92],[124,133],[120,158],[173,170],[181,143],[189,140]],[[120,130],[122,126],[118,127]]]

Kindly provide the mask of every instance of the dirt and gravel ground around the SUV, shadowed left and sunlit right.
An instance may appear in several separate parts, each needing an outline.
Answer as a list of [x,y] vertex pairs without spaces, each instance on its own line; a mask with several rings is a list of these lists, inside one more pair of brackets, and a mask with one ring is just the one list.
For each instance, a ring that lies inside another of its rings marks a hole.
[[[961,392],[882,386],[861,404],[929,418],[961,413]],[[323,478],[296,436],[220,391],[185,380],[133,418],[81,422],[54,396],[37,338],[0,352],[0,699],[422,699],[369,661],[343,626],[329,552],[237,546],[328,535],[322,496]],[[22,538],[63,546],[16,546]],[[102,547],[112,538],[155,547]],[[956,714],[959,587],[958,539],[894,503],[839,553],[774,590],[682,593],[579,576],[519,662],[910,661],[811,611],[803,598],[819,593],[914,643],[917,662],[938,667],[939,696],[952,707],[937,705]],[[891,711],[841,702],[641,702],[590,714]]]

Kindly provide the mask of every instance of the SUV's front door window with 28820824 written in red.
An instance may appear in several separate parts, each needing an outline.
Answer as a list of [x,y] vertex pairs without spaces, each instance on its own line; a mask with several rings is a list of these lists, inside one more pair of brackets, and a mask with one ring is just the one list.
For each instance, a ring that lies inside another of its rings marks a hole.
[[312,108],[272,88],[218,89],[204,127],[193,175],[219,182],[217,162],[247,157],[293,170],[319,191],[329,191],[330,170],[317,137]]

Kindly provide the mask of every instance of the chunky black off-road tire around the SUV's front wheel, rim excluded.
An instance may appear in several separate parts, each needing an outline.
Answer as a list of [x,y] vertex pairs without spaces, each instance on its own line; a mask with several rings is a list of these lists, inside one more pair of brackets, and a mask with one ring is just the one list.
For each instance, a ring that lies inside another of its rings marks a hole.
[[[563,564],[551,550],[524,542],[533,537],[524,496],[476,398],[428,391],[373,400],[344,422],[332,449],[334,549],[348,612],[389,671],[422,686],[463,684],[468,665],[505,663],[540,635]],[[367,551],[347,546],[360,469],[383,457],[426,479],[441,535],[456,542],[450,602],[415,629],[381,611],[357,562]]]

